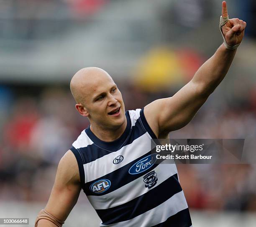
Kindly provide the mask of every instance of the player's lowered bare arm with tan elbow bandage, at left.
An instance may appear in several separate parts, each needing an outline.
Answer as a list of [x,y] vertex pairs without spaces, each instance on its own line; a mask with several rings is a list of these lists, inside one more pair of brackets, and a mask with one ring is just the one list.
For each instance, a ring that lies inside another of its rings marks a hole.
[[[54,186],[45,207],[47,213],[41,212],[41,215],[38,215],[39,221],[37,226],[61,226],[60,223],[67,219],[72,208],[77,203],[80,191],[81,186],[77,161],[72,151],[68,150],[59,162]],[[55,222],[59,222],[59,225],[54,224],[49,218],[44,217],[41,219],[42,216],[53,216],[53,219],[56,219]]]

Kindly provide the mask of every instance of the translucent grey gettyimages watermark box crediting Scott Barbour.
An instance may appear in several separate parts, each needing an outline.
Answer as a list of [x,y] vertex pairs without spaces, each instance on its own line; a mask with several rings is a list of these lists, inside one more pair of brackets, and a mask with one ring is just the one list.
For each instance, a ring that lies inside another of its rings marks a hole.
[[151,141],[156,163],[244,163],[244,139],[159,139]]

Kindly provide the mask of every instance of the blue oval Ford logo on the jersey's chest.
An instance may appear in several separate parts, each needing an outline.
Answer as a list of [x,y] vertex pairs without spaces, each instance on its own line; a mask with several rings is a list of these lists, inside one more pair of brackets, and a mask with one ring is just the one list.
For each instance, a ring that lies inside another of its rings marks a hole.
[[146,171],[156,162],[156,154],[151,154],[137,161],[130,169],[130,174],[138,174]]

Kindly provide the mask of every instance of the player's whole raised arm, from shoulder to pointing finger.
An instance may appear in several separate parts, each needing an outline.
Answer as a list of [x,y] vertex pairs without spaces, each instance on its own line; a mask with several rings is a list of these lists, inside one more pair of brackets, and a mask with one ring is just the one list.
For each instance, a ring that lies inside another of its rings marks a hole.
[[173,97],[158,99],[144,108],[145,117],[158,138],[187,125],[227,74],[236,48],[243,39],[246,23],[238,18],[228,20],[225,1],[222,3],[221,21],[223,19],[226,21],[220,29],[225,43]]

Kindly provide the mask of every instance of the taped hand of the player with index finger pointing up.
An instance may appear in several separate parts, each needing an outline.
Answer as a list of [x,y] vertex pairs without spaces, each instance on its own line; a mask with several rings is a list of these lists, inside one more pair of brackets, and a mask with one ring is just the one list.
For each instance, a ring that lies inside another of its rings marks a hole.
[[[227,3],[222,2],[222,17],[228,16]],[[239,20],[238,18],[229,19],[222,27],[222,32],[226,42],[229,46],[235,46],[243,40],[244,29],[246,28],[246,22]]]

